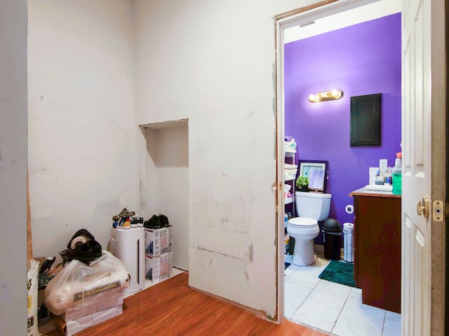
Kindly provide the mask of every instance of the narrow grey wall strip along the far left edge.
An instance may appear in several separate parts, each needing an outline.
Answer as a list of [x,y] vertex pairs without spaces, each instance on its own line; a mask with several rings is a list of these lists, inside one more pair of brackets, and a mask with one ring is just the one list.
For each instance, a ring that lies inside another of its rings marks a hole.
[[26,335],[27,1],[0,8],[0,335]]

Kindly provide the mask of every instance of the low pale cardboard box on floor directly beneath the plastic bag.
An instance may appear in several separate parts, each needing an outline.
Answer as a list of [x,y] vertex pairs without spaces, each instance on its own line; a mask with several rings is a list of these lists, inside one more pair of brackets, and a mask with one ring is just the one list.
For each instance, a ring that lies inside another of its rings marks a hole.
[[77,318],[75,320],[65,321],[62,315],[58,315],[55,316],[55,325],[62,335],[72,336],[77,332],[86,330],[93,325],[97,325],[98,323],[102,323],[121,314],[123,314],[123,303]]

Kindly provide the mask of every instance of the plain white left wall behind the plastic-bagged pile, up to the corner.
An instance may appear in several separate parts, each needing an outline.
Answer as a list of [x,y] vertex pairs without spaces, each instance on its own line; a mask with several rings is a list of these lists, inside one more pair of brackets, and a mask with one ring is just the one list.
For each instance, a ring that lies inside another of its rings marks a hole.
[[133,13],[126,0],[29,0],[34,256],[86,228],[104,249],[136,204]]

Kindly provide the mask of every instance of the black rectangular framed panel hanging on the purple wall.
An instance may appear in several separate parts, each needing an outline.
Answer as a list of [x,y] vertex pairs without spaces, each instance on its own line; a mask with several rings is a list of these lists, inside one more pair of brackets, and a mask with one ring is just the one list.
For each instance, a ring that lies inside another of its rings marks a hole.
[[382,94],[351,97],[351,147],[380,146]]

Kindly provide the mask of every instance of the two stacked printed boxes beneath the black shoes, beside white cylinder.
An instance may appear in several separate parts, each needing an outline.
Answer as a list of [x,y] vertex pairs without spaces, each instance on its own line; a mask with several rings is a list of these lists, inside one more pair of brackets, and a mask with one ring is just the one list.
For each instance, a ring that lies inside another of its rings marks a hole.
[[145,278],[153,282],[167,279],[173,272],[171,236],[173,227],[145,228]]

